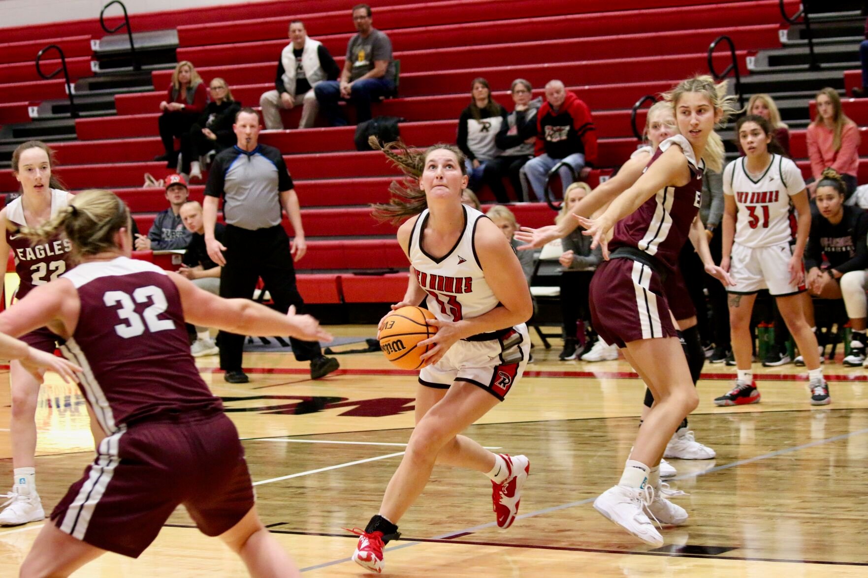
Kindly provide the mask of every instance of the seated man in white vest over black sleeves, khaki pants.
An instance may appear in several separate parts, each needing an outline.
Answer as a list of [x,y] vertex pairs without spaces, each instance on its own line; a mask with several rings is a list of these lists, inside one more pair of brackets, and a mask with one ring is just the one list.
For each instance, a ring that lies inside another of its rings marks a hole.
[[319,82],[338,79],[340,69],[328,49],[318,40],[307,37],[305,24],[300,20],[289,23],[292,43],[280,53],[274,90],[262,93],[260,106],[268,130],[283,130],[280,108],[301,109],[299,128],[311,128],[319,111],[317,96],[313,92]]

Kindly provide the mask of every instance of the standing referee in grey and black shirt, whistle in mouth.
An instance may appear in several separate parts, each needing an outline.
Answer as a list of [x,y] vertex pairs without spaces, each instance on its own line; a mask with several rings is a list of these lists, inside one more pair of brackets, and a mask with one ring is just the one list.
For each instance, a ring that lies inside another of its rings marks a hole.
[[[259,144],[261,128],[256,111],[241,108],[233,125],[238,143],[214,157],[202,211],[205,243],[208,255],[223,267],[220,297],[251,299],[261,277],[279,311],[287,312],[290,305],[295,305],[301,313],[305,302],[293,268],[293,260],[301,259],[307,249],[299,198],[280,151]],[[226,246],[214,239],[220,197],[227,225]],[[281,207],[286,209],[295,231],[292,243],[280,224]],[[247,375],[241,370],[244,336],[220,332],[217,339],[225,379],[230,384],[246,384]],[[319,343],[296,338],[290,341],[295,358],[311,362],[312,379],[338,369],[338,360],[326,358]]]

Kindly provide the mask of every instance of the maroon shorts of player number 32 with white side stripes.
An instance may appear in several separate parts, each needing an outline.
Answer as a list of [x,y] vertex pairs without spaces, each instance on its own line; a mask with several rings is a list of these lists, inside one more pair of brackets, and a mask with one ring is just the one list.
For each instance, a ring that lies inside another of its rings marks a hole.
[[51,520],[96,548],[137,558],[179,504],[211,536],[253,508],[238,430],[222,412],[121,426],[102,440]]

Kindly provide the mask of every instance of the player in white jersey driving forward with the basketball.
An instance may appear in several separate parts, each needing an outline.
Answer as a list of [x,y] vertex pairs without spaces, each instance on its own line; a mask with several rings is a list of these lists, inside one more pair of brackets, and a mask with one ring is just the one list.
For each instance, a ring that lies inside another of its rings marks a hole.
[[489,476],[500,528],[515,520],[530,470],[527,457],[494,454],[460,435],[503,401],[527,364],[530,340],[524,322],[533,304],[522,266],[500,229],[462,205],[468,177],[457,148],[435,145],[419,153],[393,146],[403,154],[395,154],[392,145],[385,154],[413,181],[403,188],[393,183],[392,200],[375,212],[383,219],[411,217],[398,229],[398,242],[411,262],[410,283],[392,308],[427,299],[437,318],[429,323],[437,334],[419,344],[433,348],[421,357],[416,427],[406,453],[377,516],[365,530],[354,530],[360,537],[352,559],[378,573],[385,543],[398,538],[398,522],[422,493],[434,463]]

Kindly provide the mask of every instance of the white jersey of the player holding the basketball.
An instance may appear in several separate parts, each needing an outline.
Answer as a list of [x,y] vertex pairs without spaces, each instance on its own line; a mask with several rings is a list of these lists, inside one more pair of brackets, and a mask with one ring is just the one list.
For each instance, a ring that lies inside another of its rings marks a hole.
[[477,222],[486,217],[475,208],[462,207],[464,231],[452,250],[443,257],[435,259],[422,248],[428,209],[419,215],[410,235],[410,262],[416,270],[416,280],[428,293],[428,309],[437,319],[444,321],[479,317],[490,312],[498,303],[485,280],[473,244]]

